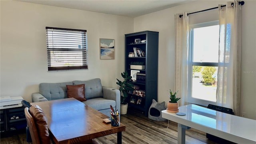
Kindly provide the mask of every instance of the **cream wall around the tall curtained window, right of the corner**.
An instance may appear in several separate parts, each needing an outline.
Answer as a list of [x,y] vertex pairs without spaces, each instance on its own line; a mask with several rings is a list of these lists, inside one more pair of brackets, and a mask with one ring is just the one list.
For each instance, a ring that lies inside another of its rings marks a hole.
[[[134,32],[159,32],[158,102],[168,101],[168,91],[175,89],[175,18],[176,13],[213,8],[226,1],[199,0],[134,18]],[[242,74],[240,112],[256,119],[256,1],[242,6]],[[218,9],[190,15],[190,24],[218,20]],[[246,73],[249,72],[249,73]]]

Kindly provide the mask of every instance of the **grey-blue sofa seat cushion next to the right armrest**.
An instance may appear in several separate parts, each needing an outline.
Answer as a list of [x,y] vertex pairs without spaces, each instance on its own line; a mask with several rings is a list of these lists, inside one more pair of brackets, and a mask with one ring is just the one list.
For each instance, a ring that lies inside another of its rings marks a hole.
[[90,100],[86,100],[83,102],[84,104],[96,109],[96,110],[104,110],[110,109],[110,104],[113,107],[116,107],[116,101],[114,100],[107,100],[105,98],[93,98]]

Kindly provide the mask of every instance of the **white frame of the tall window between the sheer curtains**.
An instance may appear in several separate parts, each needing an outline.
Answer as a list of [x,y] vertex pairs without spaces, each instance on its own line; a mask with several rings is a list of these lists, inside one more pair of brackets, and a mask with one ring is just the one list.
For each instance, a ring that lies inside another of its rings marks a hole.
[[200,104],[208,106],[208,104],[215,105],[216,102],[209,100],[202,100],[199,98],[192,98],[192,78],[193,78],[193,66],[217,66],[218,62],[193,62],[193,46],[194,46],[194,28],[202,28],[206,26],[219,25],[219,20],[204,22],[200,24],[192,24],[189,26],[189,50],[188,50],[188,102],[193,104]]

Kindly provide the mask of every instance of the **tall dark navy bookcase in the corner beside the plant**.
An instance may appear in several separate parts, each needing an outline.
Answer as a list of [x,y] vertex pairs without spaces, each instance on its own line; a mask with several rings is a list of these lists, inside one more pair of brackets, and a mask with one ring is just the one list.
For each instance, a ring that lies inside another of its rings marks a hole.
[[[144,40],[146,42],[135,43],[136,40]],[[131,53],[137,54],[137,57],[128,57]],[[131,34],[125,34],[125,70],[131,74],[130,64],[132,62],[142,62],[145,65],[144,70],[139,70],[145,74],[145,82],[133,82],[139,90],[145,92],[145,97],[137,96],[136,94],[128,94],[128,111],[137,110],[148,116],[148,110],[152,104],[152,100],[157,101],[157,82],[158,82],[158,32],[143,31]],[[131,97],[141,98],[140,104],[130,103]]]

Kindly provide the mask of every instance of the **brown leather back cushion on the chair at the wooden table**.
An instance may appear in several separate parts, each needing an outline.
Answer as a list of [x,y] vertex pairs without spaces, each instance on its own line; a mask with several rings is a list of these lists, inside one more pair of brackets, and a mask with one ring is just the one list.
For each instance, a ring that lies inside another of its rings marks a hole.
[[30,106],[29,112],[36,122],[41,144],[50,144],[47,118],[44,114],[44,111],[38,105],[35,105]]

